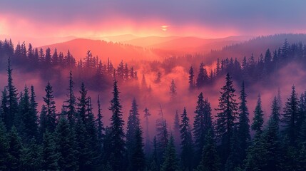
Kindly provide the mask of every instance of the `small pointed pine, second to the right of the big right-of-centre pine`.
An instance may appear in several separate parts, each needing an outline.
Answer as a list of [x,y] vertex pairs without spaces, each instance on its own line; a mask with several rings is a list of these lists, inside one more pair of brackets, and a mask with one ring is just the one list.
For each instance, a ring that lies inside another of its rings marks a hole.
[[262,133],[262,124],[263,124],[263,111],[262,111],[260,95],[258,95],[257,105],[254,110],[254,118],[252,124],[252,130],[255,130],[256,135],[260,135]]

